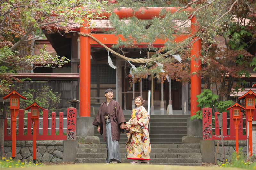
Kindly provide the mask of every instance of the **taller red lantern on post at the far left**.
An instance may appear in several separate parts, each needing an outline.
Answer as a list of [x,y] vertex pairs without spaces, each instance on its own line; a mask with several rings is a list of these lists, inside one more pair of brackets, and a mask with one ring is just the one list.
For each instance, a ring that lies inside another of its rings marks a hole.
[[10,98],[10,111],[12,116],[12,159],[15,159],[15,154],[16,154],[16,122],[17,122],[16,117],[19,114],[20,97],[22,99],[28,100],[26,97],[20,95],[15,90],[13,90],[7,96],[3,97],[4,100]]

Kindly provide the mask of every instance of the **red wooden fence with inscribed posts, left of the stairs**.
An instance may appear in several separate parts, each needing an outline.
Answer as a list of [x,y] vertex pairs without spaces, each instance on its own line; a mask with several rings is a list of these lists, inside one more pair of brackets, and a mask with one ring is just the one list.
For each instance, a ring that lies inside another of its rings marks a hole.
[[[71,112],[70,112],[71,111]],[[25,113],[26,114],[26,113]],[[68,117],[64,118],[63,112],[60,112],[59,117],[56,117],[56,113],[52,112],[52,117],[48,118],[48,110],[43,110],[43,134],[39,135],[39,123],[37,125],[37,140],[76,140],[76,108],[68,108]],[[71,117],[69,115],[72,115]],[[69,118],[70,117],[70,118]],[[48,119],[51,119],[51,128],[48,128]],[[56,128],[56,119],[59,119],[59,128]],[[64,119],[67,119],[67,127],[64,128]],[[11,119],[4,120],[4,140],[12,140],[12,126],[10,128],[11,134],[7,135],[7,121]],[[31,135],[32,132],[32,121],[31,121],[31,113],[28,112],[28,118],[27,128],[24,128],[24,110],[19,110],[19,118],[18,121],[18,135],[16,135],[16,140],[33,140],[33,135]],[[41,120],[41,118],[40,118]],[[72,126],[70,126],[70,123],[72,122]],[[72,127],[72,128],[70,128]],[[24,135],[24,129],[27,129],[27,135]],[[51,129],[51,135],[48,135],[48,129]],[[59,135],[56,135],[56,129],[59,130]],[[71,133],[72,135],[63,135],[63,129],[67,129],[67,134]],[[70,130],[72,129],[72,130]]]

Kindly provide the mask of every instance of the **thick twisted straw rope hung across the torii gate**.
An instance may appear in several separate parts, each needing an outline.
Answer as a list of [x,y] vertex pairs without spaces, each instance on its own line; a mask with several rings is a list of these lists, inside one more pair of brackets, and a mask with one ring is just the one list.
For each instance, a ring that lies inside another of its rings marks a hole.
[[[119,57],[121,57],[121,58],[123,58],[125,60],[129,60],[131,62],[134,62],[134,63],[147,63],[147,62],[154,62],[156,60],[156,59],[152,59],[152,58],[149,58],[149,59],[147,59],[147,58],[128,58],[128,57],[125,57],[124,55],[121,55],[121,54],[117,53],[116,51],[108,48],[105,44],[103,44],[102,42],[97,40],[95,37],[93,37],[91,35],[91,33],[90,34],[79,33],[79,35],[83,35],[85,37],[91,37],[93,40],[97,41],[100,45],[102,45],[104,48],[106,48],[107,50],[111,51],[115,55],[117,55],[117,56],[119,56]],[[77,41],[80,41],[80,37],[78,38]],[[162,56],[166,56],[166,55],[169,55],[169,54],[170,54],[170,52],[167,52],[167,53],[163,54]]]

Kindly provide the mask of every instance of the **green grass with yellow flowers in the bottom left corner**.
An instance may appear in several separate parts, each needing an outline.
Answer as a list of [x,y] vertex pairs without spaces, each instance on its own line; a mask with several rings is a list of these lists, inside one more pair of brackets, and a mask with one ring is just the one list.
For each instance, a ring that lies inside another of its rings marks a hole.
[[[31,159],[32,160],[32,159]],[[5,158],[3,157],[0,159],[0,169],[6,169],[6,168],[24,168],[24,167],[31,167],[31,166],[44,166],[42,163],[32,163],[32,162],[21,162],[20,160],[12,160],[12,158]]]

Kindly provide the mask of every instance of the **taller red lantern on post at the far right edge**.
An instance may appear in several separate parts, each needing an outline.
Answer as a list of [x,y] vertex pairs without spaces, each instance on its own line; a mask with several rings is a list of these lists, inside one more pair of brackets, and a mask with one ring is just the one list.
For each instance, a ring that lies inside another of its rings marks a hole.
[[243,99],[245,97],[246,103],[246,115],[248,116],[248,124],[249,124],[249,137],[248,137],[248,148],[249,148],[249,156],[252,156],[252,116],[255,109],[255,96],[256,94],[252,92],[250,89],[243,96],[239,97],[238,100]]

